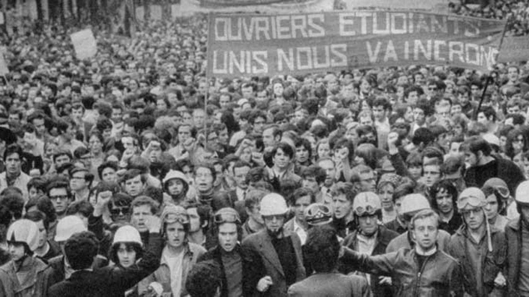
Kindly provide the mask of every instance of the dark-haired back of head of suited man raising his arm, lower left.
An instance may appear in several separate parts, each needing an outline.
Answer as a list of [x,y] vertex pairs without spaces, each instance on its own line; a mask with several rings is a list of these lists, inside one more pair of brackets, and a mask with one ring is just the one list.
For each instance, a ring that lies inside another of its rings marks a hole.
[[99,241],[90,231],[72,235],[65,245],[65,255],[74,270],[89,269],[99,249]]

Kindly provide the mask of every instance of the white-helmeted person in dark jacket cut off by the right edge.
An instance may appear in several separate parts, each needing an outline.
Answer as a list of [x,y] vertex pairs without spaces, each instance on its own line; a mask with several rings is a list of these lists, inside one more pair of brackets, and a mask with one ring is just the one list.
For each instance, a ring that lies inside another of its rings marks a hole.
[[514,198],[520,215],[505,227],[507,294],[529,296],[529,180],[518,185]]

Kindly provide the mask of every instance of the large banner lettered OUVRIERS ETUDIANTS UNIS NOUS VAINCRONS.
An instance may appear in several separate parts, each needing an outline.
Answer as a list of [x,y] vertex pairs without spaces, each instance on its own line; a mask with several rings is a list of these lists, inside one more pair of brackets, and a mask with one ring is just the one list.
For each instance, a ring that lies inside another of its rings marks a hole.
[[207,74],[235,77],[447,64],[488,71],[505,21],[410,11],[211,13]]

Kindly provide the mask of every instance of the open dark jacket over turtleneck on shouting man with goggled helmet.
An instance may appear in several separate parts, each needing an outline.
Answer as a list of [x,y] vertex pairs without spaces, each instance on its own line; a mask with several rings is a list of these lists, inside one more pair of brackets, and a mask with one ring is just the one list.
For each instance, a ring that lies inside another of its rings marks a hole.
[[[257,291],[257,283],[259,282],[262,277],[265,277],[265,265],[262,262],[261,257],[259,254],[251,248],[248,247],[241,247],[240,245],[237,245],[235,247],[235,252],[239,253],[241,255],[242,259],[242,291],[245,297],[249,296],[259,296],[259,292]],[[202,255],[198,259],[198,262],[200,261],[207,261],[207,260],[214,260],[222,267],[222,297],[228,296],[227,291],[227,279],[224,272],[224,267],[222,263],[222,254],[221,254],[221,247],[216,246],[209,250],[207,253]]]

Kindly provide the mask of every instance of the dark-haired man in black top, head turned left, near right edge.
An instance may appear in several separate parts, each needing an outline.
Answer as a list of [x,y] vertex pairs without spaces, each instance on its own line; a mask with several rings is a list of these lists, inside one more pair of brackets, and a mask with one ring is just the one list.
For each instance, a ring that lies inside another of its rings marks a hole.
[[515,193],[518,184],[525,180],[522,171],[512,161],[491,156],[489,143],[479,136],[465,140],[460,150],[470,165],[464,176],[467,187],[482,188],[489,178],[497,177],[505,181],[510,193]]

